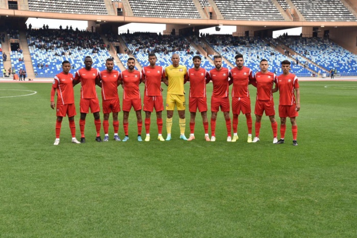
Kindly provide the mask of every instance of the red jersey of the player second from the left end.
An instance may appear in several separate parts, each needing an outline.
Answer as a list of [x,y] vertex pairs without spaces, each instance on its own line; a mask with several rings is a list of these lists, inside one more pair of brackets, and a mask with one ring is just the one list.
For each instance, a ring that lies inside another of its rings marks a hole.
[[81,82],[81,98],[95,99],[97,98],[96,78],[99,76],[99,70],[96,68],[81,68],[76,72],[75,80]]

